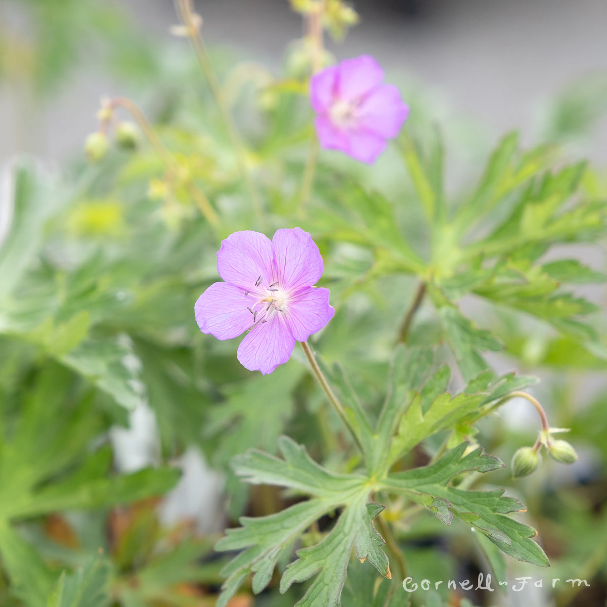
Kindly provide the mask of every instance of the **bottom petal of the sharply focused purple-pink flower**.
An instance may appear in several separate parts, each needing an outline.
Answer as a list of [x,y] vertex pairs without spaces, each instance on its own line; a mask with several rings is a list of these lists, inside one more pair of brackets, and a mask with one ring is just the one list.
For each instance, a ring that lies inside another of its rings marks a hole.
[[295,337],[282,314],[274,314],[268,322],[257,323],[240,342],[237,358],[249,371],[272,373],[287,362],[295,347]]

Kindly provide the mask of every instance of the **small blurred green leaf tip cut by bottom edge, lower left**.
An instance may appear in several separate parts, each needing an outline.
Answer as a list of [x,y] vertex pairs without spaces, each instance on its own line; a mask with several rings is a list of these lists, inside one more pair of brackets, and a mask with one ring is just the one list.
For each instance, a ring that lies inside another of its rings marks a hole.
[[104,558],[92,558],[67,575],[64,571],[49,595],[47,607],[105,607],[110,602],[111,566]]

